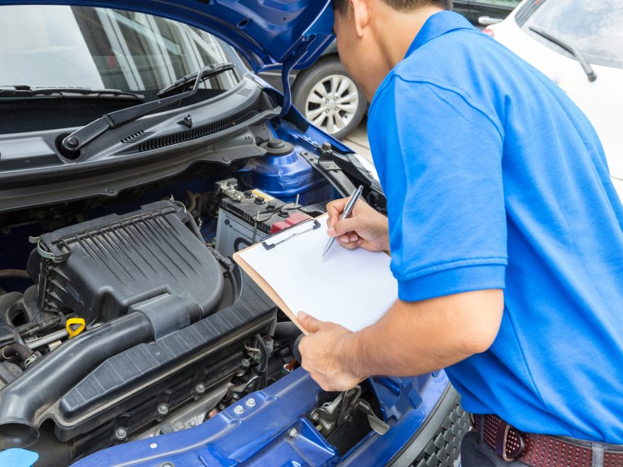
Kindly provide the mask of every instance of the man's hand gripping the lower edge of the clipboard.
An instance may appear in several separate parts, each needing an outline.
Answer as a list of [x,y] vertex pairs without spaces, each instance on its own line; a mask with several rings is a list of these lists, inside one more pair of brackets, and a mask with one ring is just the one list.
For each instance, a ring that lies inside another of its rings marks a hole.
[[319,321],[299,312],[299,323],[309,331],[299,343],[303,357],[301,365],[325,391],[347,391],[357,386],[365,376],[350,373],[343,358],[343,347],[353,335],[335,323]]

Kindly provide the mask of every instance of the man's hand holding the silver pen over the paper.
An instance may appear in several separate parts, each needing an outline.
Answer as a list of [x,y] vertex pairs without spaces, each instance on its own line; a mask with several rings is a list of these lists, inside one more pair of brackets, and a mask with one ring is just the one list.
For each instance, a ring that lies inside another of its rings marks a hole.
[[376,212],[362,200],[353,207],[350,217],[340,220],[348,198],[327,204],[329,236],[337,237],[344,248],[365,248],[370,251],[389,251],[389,226],[387,217]]

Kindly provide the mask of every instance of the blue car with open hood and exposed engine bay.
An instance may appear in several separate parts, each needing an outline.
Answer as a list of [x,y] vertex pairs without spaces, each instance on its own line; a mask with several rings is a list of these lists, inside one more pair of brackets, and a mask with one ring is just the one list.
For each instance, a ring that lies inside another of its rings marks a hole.
[[385,211],[291,103],[332,23],[318,0],[0,1],[0,465],[458,465],[444,371],[322,391],[231,259],[360,184]]

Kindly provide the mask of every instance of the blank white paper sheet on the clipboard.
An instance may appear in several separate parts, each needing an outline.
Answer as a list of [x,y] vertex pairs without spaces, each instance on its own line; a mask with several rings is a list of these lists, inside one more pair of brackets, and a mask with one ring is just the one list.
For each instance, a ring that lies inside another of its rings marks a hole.
[[261,275],[293,313],[304,311],[356,331],[375,323],[398,298],[398,285],[385,253],[346,250],[328,241],[326,219],[272,250],[250,248],[240,256]]

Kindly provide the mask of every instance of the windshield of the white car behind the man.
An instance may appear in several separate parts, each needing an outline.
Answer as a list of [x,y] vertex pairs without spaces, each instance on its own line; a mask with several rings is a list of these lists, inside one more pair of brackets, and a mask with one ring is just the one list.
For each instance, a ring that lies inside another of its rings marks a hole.
[[547,47],[568,54],[553,42],[539,38],[530,28],[540,28],[578,47],[592,64],[623,68],[621,0],[530,0],[523,4],[515,20]]

